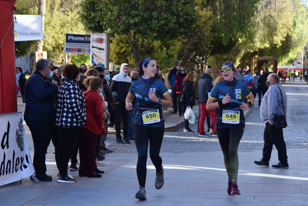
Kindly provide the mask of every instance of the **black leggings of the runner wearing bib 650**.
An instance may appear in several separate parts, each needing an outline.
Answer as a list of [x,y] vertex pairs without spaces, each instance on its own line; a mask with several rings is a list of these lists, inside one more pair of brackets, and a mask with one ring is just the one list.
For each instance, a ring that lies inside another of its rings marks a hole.
[[134,124],[135,144],[138,151],[137,177],[139,185],[145,187],[147,176],[148,144],[150,140],[150,158],[156,168],[161,172],[162,159],[159,156],[161,143],[164,137],[164,125],[161,127],[147,127]]

